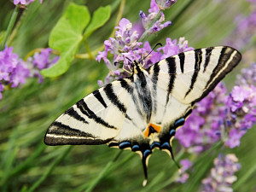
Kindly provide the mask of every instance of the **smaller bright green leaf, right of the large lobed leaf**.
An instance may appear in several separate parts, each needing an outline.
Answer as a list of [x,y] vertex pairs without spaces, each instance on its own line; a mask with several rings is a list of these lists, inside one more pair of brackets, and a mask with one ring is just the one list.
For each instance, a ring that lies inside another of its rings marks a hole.
[[93,13],[92,20],[84,32],[84,38],[90,36],[97,28],[103,26],[110,18],[111,6],[100,7]]

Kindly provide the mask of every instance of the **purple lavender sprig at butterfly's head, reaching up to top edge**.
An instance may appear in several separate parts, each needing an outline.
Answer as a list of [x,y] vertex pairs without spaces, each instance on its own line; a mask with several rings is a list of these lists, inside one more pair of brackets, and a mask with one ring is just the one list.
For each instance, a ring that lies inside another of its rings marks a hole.
[[[164,6],[165,9],[169,8],[176,1],[158,1],[161,6]],[[170,5],[170,6],[169,6]],[[158,32],[166,26],[171,24],[170,21],[162,24],[165,20],[163,13],[160,13],[160,7],[155,0],[152,0],[150,3],[150,9],[148,9],[149,15],[146,16],[143,12],[140,13],[143,17],[143,26],[148,34],[153,32]],[[157,15],[160,16],[160,20],[155,20]],[[129,75],[127,72],[131,72],[131,61],[137,60],[140,61],[144,59],[146,55],[152,50],[148,42],[140,42],[141,38],[141,27],[138,25],[133,25],[130,20],[125,18],[119,21],[119,26],[115,27],[117,32],[115,33],[115,38],[109,38],[104,42],[105,50],[99,52],[99,55],[96,57],[96,61],[103,60],[106,66],[109,69],[108,76],[105,78],[105,82],[98,81],[100,86],[112,82],[114,79],[125,78]],[[146,32],[146,33],[147,33]],[[144,32],[145,34],[145,32]],[[143,47],[141,47],[143,45]],[[166,49],[171,49],[166,51]],[[160,61],[160,58],[163,56],[171,56],[177,53],[183,52],[182,50],[189,50],[188,42],[184,41],[183,38],[180,39],[179,43],[172,39],[166,40],[166,46],[162,49],[158,49],[157,52],[152,52],[145,58],[145,68],[150,67],[157,61]],[[113,61],[109,61],[107,58],[108,53],[113,54]],[[123,65],[122,65],[123,64]]]

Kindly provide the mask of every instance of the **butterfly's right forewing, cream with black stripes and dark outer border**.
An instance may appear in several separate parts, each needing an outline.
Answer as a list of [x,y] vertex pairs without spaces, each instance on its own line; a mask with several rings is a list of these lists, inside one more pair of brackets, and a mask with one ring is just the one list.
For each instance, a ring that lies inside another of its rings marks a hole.
[[[230,47],[187,51],[158,63],[159,84],[168,84],[172,88],[170,94],[179,102],[195,103],[207,96],[239,61],[241,54]],[[154,73],[154,67],[150,68],[150,73]]]

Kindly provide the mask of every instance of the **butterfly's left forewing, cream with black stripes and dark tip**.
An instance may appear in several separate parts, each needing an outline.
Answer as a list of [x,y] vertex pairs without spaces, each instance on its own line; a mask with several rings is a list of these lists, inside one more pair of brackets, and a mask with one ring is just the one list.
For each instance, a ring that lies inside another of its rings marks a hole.
[[118,135],[125,119],[119,109],[122,95],[125,89],[119,82],[113,82],[85,96],[49,126],[44,142],[48,145],[108,143]]

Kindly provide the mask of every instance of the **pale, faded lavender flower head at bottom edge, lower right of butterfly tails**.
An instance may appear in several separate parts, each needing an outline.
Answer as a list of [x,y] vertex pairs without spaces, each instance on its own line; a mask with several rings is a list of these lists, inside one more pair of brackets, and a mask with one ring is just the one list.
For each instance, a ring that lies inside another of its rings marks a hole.
[[203,192],[225,191],[232,192],[232,183],[237,177],[235,172],[240,170],[241,165],[237,163],[238,159],[235,154],[218,155],[214,159],[214,168],[211,170],[211,175],[202,180]]

